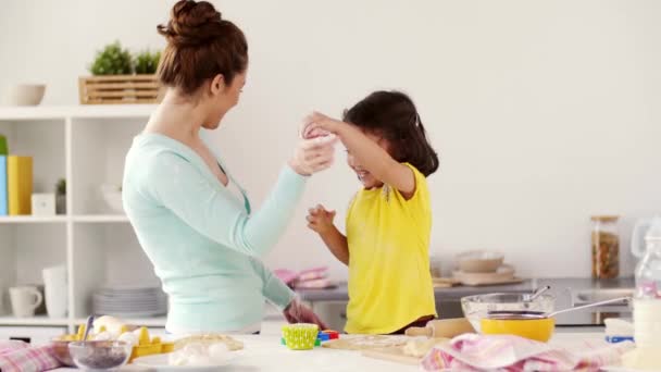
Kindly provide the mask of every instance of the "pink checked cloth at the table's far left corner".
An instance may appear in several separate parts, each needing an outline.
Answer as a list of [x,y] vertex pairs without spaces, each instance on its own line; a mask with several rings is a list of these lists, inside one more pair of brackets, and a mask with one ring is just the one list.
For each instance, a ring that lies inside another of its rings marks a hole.
[[61,367],[51,346],[33,347],[21,340],[0,342],[1,372],[41,372]]

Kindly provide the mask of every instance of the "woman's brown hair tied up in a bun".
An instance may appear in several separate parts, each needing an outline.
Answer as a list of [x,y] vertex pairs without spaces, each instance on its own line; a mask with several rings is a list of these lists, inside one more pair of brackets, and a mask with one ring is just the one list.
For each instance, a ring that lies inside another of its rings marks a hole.
[[248,66],[246,36],[207,1],[178,1],[167,24],[157,29],[167,39],[159,79],[185,95],[194,94],[217,74],[229,85]]

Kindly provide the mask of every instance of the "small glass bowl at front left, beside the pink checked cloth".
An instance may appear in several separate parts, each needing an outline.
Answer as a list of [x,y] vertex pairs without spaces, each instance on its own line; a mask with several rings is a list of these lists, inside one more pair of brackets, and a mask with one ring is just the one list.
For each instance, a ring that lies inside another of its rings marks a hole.
[[88,340],[68,344],[74,363],[87,371],[108,371],[124,365],[132,347],[124,342]]

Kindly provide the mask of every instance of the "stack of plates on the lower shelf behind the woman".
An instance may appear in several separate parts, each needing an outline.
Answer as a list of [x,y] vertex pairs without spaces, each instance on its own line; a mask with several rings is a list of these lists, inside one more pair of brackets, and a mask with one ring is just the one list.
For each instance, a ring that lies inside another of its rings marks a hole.
[[148,318],[167,313],[167,296],[160,287],[109,286],[92,295],[96,315]]

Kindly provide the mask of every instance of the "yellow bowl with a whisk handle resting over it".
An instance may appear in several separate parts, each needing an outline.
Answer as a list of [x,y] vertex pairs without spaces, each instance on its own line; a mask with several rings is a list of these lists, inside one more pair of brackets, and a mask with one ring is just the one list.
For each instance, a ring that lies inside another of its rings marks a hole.
[[546,343],[553,335],[556,321],[553,318],[541,319],[489,319],[479,321],[482,333],[485,335],[516,335]]

